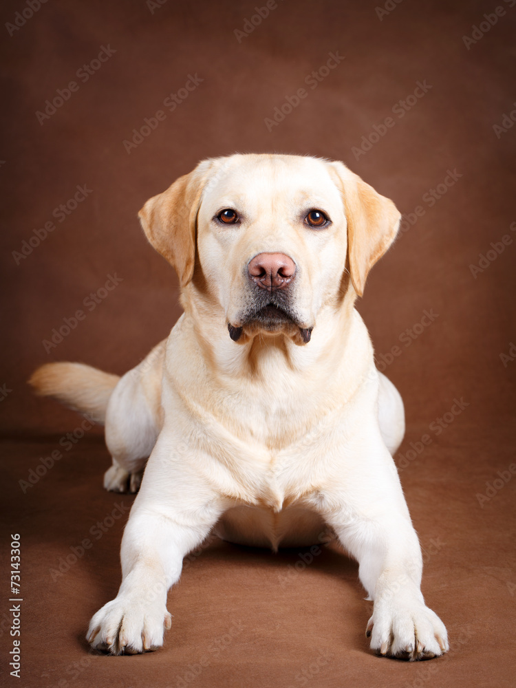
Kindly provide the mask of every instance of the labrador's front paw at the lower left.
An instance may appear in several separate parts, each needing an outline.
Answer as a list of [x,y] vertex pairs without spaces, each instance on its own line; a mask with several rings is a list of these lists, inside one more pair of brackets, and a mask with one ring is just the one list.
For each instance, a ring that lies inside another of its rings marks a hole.
[[164,629],[172,617],[166,608],[131,603],[123,597],[108,602],[89,623],[86,640],[109,654],[140,654],[163,645]]

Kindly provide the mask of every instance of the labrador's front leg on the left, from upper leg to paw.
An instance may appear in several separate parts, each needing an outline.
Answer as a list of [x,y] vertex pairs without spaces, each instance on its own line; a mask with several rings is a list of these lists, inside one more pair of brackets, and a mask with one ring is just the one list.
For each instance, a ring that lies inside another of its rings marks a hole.
[[[171,627],[166,593],[183,557],[208,535],[224,510],[210,486],[158,439],[122,538],[122,585],[89,624],[87,640],[110,654],[137,654],[163,644]],[[163,453],[165,451],[165,453]]]

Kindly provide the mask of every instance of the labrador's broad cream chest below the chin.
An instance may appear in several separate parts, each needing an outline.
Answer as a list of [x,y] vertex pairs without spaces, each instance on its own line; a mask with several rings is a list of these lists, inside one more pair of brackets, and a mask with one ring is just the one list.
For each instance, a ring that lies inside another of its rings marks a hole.
[[292,365],[269,347],[236,375],[195,347],[186,356],[182,340],[171,352],[183,365],[169,366],[167,423],[217,493],[277,512],[321,489],[345,456],[356,406],[345,366]]

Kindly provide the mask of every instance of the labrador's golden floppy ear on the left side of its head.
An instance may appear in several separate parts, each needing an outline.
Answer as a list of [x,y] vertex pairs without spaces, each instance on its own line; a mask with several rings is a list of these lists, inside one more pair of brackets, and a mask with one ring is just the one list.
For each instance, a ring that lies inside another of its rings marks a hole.
[[149,198],[138,213],[147,239],[173,266],[182,287],[193,277],[197,213],[212,166],[213,160],[203,160],[169,189]]

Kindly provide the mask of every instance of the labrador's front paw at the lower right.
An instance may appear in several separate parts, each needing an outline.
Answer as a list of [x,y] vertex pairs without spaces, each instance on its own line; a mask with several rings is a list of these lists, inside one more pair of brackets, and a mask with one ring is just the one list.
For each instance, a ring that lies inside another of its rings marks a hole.
[[411,662],[438,657],[449,649],[444,623],[422,601],[376,601],[365,634],[378,654]]

